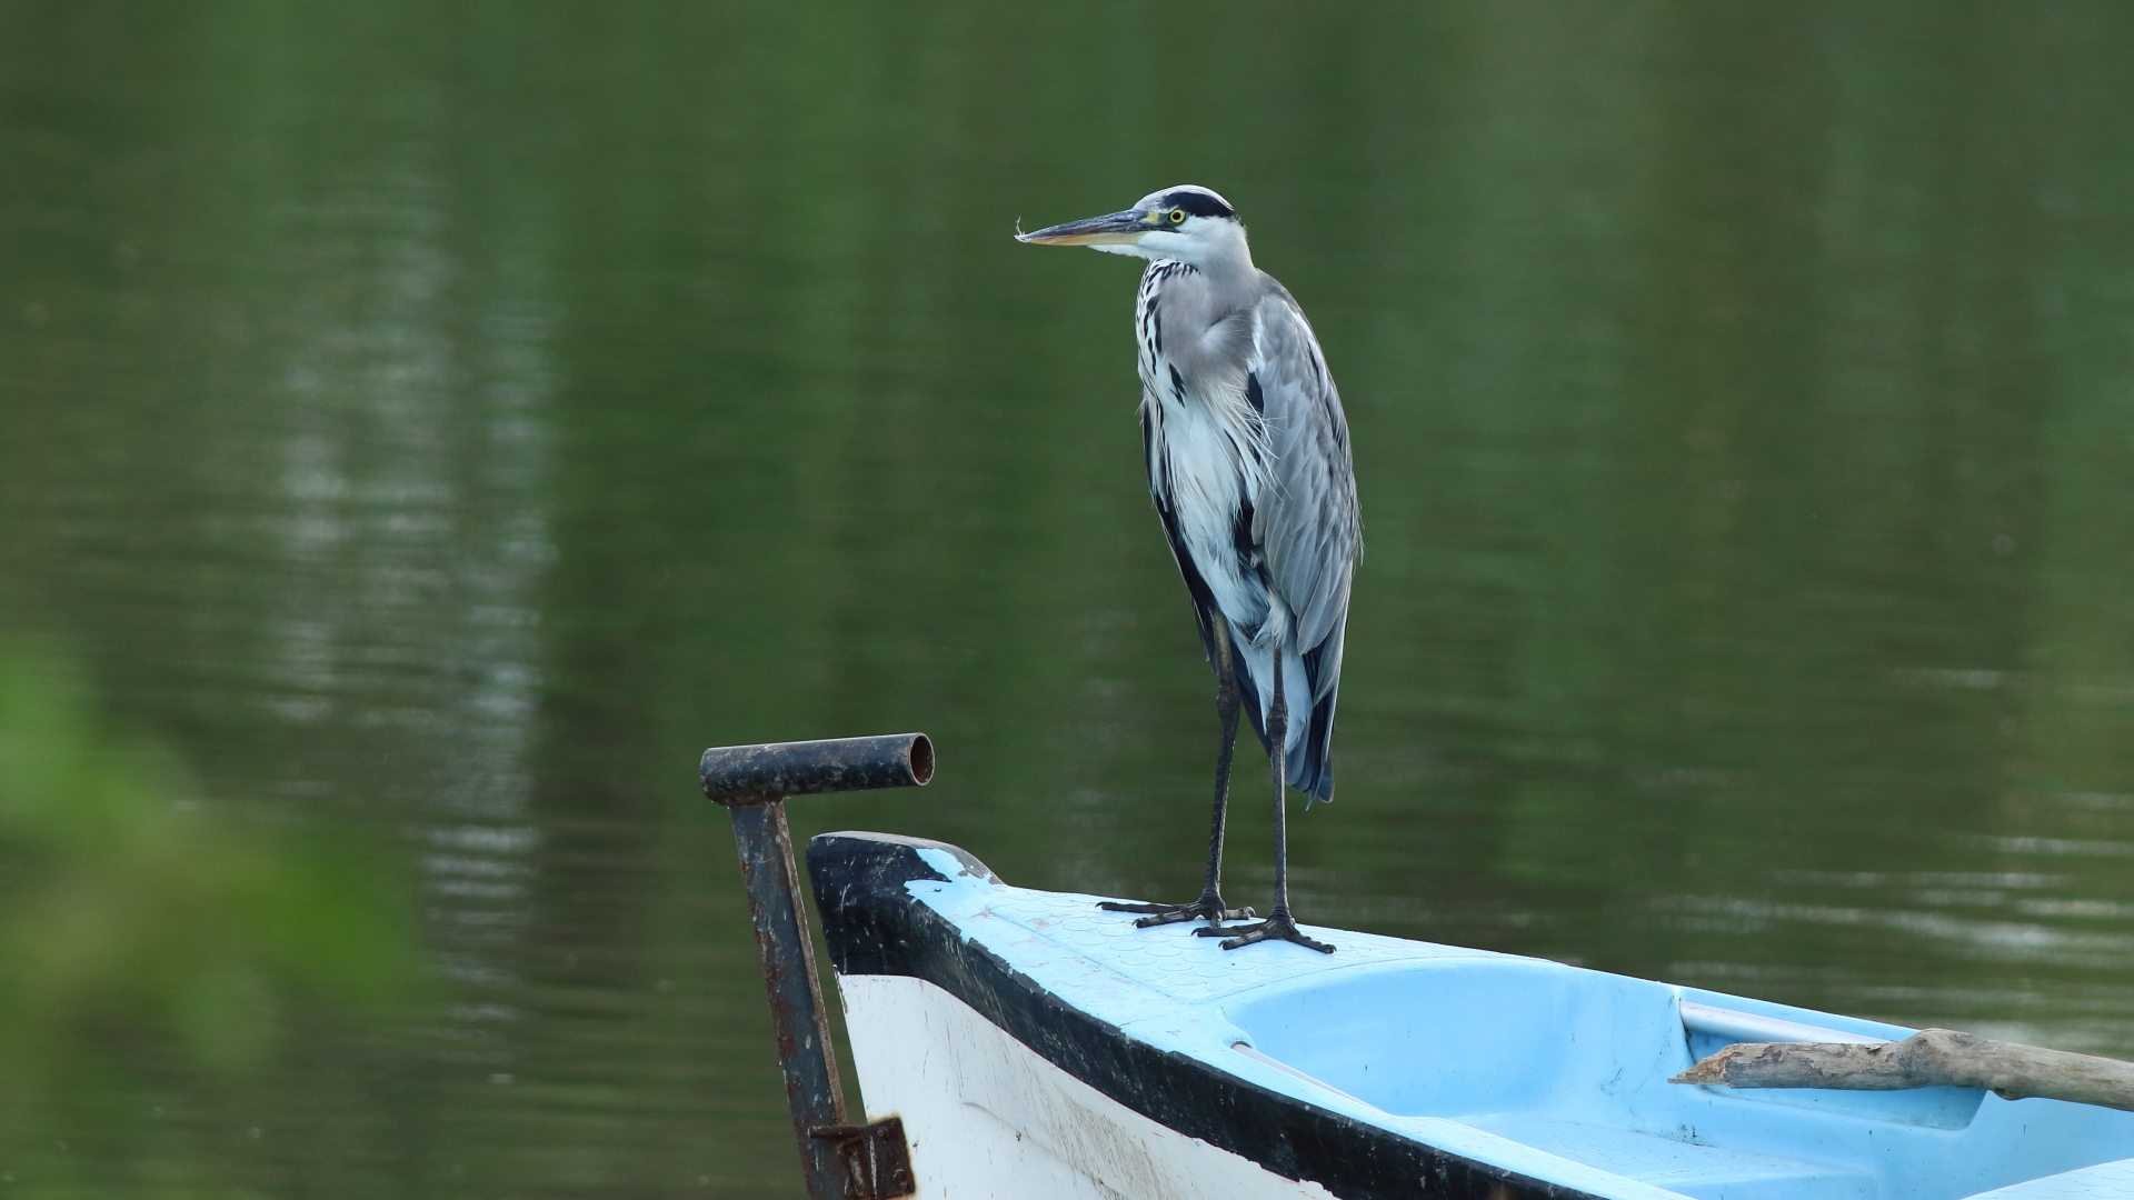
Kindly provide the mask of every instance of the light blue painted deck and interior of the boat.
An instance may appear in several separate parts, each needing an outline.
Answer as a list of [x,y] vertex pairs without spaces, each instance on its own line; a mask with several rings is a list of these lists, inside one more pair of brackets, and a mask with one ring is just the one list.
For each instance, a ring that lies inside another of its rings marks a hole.
[[913,899],[1125,1036],[1534,1179],[1626,1200],[2134,1198],[2134,1112],[1669,1083],[1731,1042],[1912,1029],[1340,929],[1312,929],[1332,957],[1225,952],[926,854],[947,880]]

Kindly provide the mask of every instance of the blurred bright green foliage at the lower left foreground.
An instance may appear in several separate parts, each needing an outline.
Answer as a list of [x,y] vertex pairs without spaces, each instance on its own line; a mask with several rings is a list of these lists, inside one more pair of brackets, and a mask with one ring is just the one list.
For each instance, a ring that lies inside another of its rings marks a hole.
[[361,839],[198,796],[166,752],[98,720],[66,658],[0,641],[6,1183],[79,1194],[122,1174],[154,1098],[258,1068],[294,1008],[410,1001],[403,895]]

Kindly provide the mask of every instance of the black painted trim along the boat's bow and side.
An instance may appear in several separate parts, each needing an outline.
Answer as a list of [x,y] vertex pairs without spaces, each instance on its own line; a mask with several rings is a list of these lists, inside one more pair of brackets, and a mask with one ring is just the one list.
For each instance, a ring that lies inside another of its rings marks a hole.
[[1603,1200],[1319,1108],[1201,1059],[1159,1051],[1097,1021],[967,942],[920,903],[911,880],[947,880],[920,850],[945,850],[965,875],[999,878],[945,841],[824,833],[809,841],[830,959],[841,976],[926,980],[1063,1072],[1127,1108],[1263,1170],[1312,1181],[1342,1200]]

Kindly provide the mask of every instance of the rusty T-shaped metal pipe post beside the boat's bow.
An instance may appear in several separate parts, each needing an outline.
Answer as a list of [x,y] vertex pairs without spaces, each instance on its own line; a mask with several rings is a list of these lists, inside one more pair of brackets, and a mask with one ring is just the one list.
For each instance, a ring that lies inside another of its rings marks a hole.
[[888,1121],[875,1127],[845,1119],[845,1087],[837,1078],[830,1012],[815,976],[815,944],[785,824],[785,796],[924,786],[933,779],[933,743],[922,732],[903,732],[715,745],[704,752],[698,771],[704,794],[734,818],[734,848],[740,852],[755,948],[764,959],[764,991],[770,995],[809,1200],[909,1196],[903,1125],[890,1130]]

